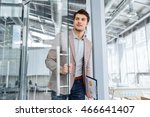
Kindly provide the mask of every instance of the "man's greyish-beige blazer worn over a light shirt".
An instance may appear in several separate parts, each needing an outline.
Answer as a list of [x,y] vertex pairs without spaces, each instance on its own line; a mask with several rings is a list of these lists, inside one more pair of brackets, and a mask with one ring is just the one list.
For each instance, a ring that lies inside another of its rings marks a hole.
[[[54,91],[57,91],[57,81],[56,81],[56,46],[60,45],[60,52],[66,53],[67,51],[67,33],[60,33],[56,36],[55,41],[53,43],[53,48],[49,50],[47,58],[45,60],[47,68],[52,71],[52,75],[49,80],[48,87]],[[70,88],[72,88],[75,78],[75,48],[74,48],[74,40],[73,40],[73,30],[69,31],[69,46],[70,46],[70,62],[72,63],[72,73],[70,73]],[[85,37],[84,38],[84,67],[83,67],[83,81],[85,84],[86,91],[87,89],[87,82],[85,79],[86,75],[90,76],[90,55],[92,50],[92,43]],[[65,56],[60,56],[60,68],[67,63]],[[67,75],[60,74],[60,84],[66,85],[67,84]],[[70,89],[69,89],[70,90]],[[61,94],[68,94],[68,88],[61,88]]]

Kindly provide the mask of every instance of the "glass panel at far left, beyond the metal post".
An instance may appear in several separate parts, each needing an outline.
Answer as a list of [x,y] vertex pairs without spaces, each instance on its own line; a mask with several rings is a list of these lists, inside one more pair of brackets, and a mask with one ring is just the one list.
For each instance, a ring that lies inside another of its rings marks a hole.
[[0,1],[0,99],[19,97],[21,17],[22,0]]

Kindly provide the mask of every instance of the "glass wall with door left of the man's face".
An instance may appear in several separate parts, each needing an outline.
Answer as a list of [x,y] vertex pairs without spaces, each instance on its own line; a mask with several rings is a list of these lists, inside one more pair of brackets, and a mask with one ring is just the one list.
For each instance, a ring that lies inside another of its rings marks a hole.
[[[0,99],[51,99],[52,71],[45,59],[56,49],[57,61],[64,56],[69,63],[68,40],[63,53],[53,43],[60,32],[68,39],[73,14],[81,8],[86,9],[86,0],[0,0]],[[66,77],[65,86],[57,80],[60,90],[69,89]]]

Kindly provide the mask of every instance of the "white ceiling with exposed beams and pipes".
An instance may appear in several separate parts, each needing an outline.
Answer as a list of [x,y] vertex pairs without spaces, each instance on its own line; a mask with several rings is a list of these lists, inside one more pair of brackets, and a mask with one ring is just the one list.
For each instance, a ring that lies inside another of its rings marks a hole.
[[[62,3],[60,2],[61,0],[24,1],[30,1],[30,41],[35,43],[42,43],[44,45],[51,44],[57,30],[59,31],[60,25],[58,24],[62,24],[62,30],[65,30],[67,26],[72,27],[72,18],[74,12],[78,9],[86,8],[86,0],[69,0],[68,4],[68,0],[62,0]],[[104,2],[107,42],[118,38],[119,35],[123,35],[133,26],[150,16],[150,0],[105,0]],[[9,5],[11,5],[11,3]],[[61,5],[62,9],[60,11]],[[4,8],[7,7],[4,3],[1,4],[1,9],[3,8],[3,6]],[[17,11],[15,10],[16,8],[18,8],[16,6],[16,3],[15,5],[12,4],[12,8],[13,7],[15,8],[12,10],[14,11],[14,13],[17,13]],[[7,17],[7,23],[9,23],[10,25],[14,25],[14,23],[17,25],[21,24],[21,17],[19,17]],[[0,25],[2,25],[4,21],[4,17],[1,16]],[[3,26],[0,28],[0,30],[3,30]]]

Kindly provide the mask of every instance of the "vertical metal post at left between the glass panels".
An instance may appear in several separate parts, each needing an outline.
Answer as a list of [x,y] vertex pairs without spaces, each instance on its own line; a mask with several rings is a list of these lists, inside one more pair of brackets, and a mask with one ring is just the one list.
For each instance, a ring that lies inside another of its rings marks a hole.
[[[25,12],[27,10],[27,12]],[[27,14],[24,14],[27,13]],[[19,70],[19,99],[27,99],[27,39],[28,39],[28,4],[22,4],[22,45],[20,54],[20,70]]]

